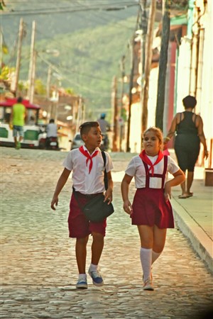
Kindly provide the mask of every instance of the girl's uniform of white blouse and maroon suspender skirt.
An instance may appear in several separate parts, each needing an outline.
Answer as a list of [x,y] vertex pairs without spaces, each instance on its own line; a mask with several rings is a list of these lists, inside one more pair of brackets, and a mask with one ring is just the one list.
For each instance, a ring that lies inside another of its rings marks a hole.
[[[158,159],[148,156],[152,164]],[[163,156],[151,170],[139,155],[133,157],[126,174],[135,179],[136,194],[132,204],[132,225],[157,225],[158,228],[174,228],[173,209],[170,201],[165,201],[164,186],[168,172],[175,174],[180,167],[170,156]]]

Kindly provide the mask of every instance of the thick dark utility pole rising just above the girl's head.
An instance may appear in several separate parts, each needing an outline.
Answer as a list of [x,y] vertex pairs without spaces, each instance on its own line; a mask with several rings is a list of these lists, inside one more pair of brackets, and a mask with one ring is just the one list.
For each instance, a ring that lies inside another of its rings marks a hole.
[[160,45],[160,60],[158,71],[158,94],[155,111],[155,126],[163,130],[163,110],[165,101],[165,78],[168,62],[168,43],[170,40],[170,0],[163,1],[163,23]]

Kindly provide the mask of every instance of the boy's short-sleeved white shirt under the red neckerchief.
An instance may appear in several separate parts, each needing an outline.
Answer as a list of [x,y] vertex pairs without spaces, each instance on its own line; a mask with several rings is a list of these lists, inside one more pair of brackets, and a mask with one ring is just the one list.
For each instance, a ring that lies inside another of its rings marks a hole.
[[[84,150],[87,150],[87,147],[83,147]],[[86,164],[87,157],[84,156],[78,148],[68,152],[67,157],[62,163],[63,167],[72,172],[72,181],[75,190],[80,191],[80,193],[82,194],[96,194],[105,191],[104,159],[99,147],[97,147],[95,150],[99,150],[99,152],[95,157],[92,158],[92,170],[90,173],[90,160]],[[105,154],[106,170],[107,172],[109,172],[111,171],[111,169],[113,169],[113,164],[111,162],[111,157],[109,156],[109,154],[107,152],[105,152]]]

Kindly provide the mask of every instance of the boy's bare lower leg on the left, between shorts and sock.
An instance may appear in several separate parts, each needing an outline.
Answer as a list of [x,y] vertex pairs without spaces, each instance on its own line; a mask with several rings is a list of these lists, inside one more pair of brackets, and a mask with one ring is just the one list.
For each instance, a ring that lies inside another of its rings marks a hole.
[[87,257],[87,242],[88,238],[77,238],[75,244],[75,256],[79,274],[86,274],[86,257]]

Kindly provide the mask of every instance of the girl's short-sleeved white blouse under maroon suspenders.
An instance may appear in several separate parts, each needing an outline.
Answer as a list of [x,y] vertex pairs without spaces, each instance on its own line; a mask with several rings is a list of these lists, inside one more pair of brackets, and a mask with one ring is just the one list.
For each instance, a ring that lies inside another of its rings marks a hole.
[[[154,164],[156,159],[158,158],[158,155],[154,157],[148,156],[148,158]],[[150,168],[150,165],[148,165],[148,168]],[[161,159],[161,161],[154,166],[154,174],[163,174],[163,168],[164,160]],[[168,156],[167,172],[170,172],[170,174],[175,174],[176,172],[178,172],[179,169],[180,167],[178,166],[178,164],[176,164],[174,159]],[[139,155],[134,156],[131,159],[125,173],[135,178],[136,189],[143,189],[146,187],[146,170]],[[168,181],[168,173],[165,175],[165,182],[166,181]],[[149,187],[151,189],[160,189],[161,184],[162,179],[160,177],[151,177]]]

